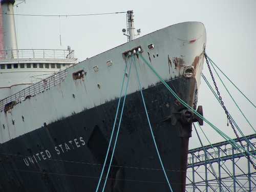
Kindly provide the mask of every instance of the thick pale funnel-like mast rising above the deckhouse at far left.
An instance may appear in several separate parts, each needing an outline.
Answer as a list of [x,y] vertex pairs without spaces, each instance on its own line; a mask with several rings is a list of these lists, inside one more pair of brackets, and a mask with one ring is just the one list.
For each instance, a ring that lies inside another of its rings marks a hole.
[[[15,0],[1,1],[4,50],[17,50],[17,38],[13,11],[14,3]],[[8,57],[10,57],[10,55]]]

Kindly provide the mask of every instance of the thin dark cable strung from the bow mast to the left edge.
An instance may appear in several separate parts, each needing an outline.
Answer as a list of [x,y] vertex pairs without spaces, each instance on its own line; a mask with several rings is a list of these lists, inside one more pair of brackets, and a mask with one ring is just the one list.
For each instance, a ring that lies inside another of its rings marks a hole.
[[41,16],[41,17],[74,17],[74,16],[92,16],[92,15],[113,15],[126,13],[126,11],[121,12],[110,12],[110,13],[91,13],[91,14],[66,14],[66,15],[45,15],[45,14],[14,14],[14,13],[0,13],[2,15],[17,15],[17,16]]

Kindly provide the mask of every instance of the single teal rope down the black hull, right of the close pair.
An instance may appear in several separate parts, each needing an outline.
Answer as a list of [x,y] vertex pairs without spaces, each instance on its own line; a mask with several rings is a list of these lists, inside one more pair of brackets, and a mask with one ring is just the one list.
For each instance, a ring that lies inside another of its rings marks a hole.
[[144,96],[143,96],[142,89],[141,89],[141,83],[140,83],[140,79],[139,79],[139,74],[138,74],[138,70],[137,70],[137,66],[136,66],[135,57],[133,57],[133,60],[134,60],[134,66],[135,66],[135,70],[136,70],[137,80],[138,80],[138,82],[139,82],[140,94],[141,94],[141,98],[142,98],[142,101],[143,101],[143,105],[144,105],[144,109],[145,109],[145,113],[146,113],[147,122],[148,122],[148,125],[150,126],[150,132],[151,132],[151,135],[152,135],[152,139],[153,139],[153,141],[154,141],[154,144],[155,144],[155,147],[156,147],[156,151],[157,151],[157,155],[158,155],[158,158],[159,158],[161,167],[162,167],[162,169],[163,169],[164,177],[165,177],[165,179],[166,179],[166,181],[167,181],[167,183],[168,183],[168,186],[169,186],[170,191],[173,192],[173,189],[172,189],[172,187],[170,186],[168,177],[167,177],[166,172],[165,172],[165,168],[164,168],[164,165],[163,165],[163,162],[162,162],[162,158],[161,158],[160,153],[159,153],[159,151],[158,151],[158,147],[157,147],[157,143],[156,143],[156,140],[155,140],[155,135],[154,135],[154,133],[153,133],[153,129],[152,129],[152,126],[151,126],[150,118],[148,117],[148,113],[147,113],[147,109],[146,109],[146,104],[145,104]]

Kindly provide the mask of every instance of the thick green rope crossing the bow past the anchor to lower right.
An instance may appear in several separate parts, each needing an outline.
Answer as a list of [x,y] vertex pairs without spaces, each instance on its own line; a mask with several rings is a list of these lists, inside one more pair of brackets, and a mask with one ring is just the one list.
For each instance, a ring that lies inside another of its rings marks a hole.
[[[228,137],[225,133],[223,133],[222,131],[220,131],[214,124],[212,124],[211,122],[209,122],[206,118],[204,118],[202,115],[200,115],[196,110],[194,110],[193,108],[191,108],[191,106],[189,106],[186,102],[184,102],[169,86],[168,84],[162,79],[162,77],[160,77],[160,75],[156,72],[156,70],[146,61],[146,59],[141,55],[141,53],[139,54],[142,58],[142,60],[146,63],[146,65],[155,73],[155,75],[162,81],[162,83],[164,84],[164,86],[174,95],[174,97],[180,102],[182,103],[187,109],[191,110],[193,113],[195,113],[198,117],[200,117],[201,119],[203,119],[207,124],[209,124],[218,134],[220,134],[227,142],[229,142],[231,145],[233,145],[234,147],[237,148],[237,150],[244,154],[244,152],[246,152],[248,155],[252,156],[253,159],[256,159],[255,156],[253,156],[250,152],[248,152],[243,146],[240,146],[238,143],[234,142],[230,137]],[[244,152],[242,152],[241,150],[243,150]],[[245,154],[244,154],[245,155]]]

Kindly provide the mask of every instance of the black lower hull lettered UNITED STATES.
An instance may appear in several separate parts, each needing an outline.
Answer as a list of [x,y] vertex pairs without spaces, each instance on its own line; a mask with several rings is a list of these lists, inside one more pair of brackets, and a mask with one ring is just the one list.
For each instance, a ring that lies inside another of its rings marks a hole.
[[[181,77],[168,84],[189,105],[195,104],[195,79]],[[184,107],[163,84],[143,94],[170,184],[174,191],[184,191],[191,123],[184,124],[174,115]],[[95,191],[117,102],[45,124],[1,144],[0,191]],[[127,95],[112,165],[105,191],[169,191],[139,92]]]

